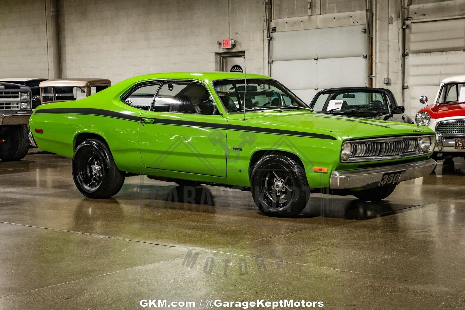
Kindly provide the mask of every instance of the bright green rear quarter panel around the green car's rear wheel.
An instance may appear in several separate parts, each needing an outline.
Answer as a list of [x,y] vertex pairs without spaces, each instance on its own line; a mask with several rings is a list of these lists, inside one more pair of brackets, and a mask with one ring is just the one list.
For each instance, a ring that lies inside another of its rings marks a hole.
[[[93,95],[95,96],[95,95]],[[34,111],[29,125],[37,146],[47,152],[72,157],[79,134],[93,133],[105,139],[120,170],[137,172],[142,165],[138,145],[140,110],[125,106],[119,98],[104,99],[93,96],[77,101],[51,103]],[[116,112],[120,117],[95,115],[86,109]],[[36,133],[40,128],[43,133]]]

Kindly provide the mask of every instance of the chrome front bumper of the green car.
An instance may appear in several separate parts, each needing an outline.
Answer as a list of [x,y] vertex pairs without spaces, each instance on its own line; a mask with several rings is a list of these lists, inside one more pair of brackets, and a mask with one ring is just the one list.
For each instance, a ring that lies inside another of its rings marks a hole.
[[348,189],[378,186],[383,174],[388,172],[403,171],[399,182],[421,178],[430,174],[436,161],[428,159],[409,164],[390,165],[376,168],[365,168],[348,171],[334,171],[331,173],[329,187],[331,189]]

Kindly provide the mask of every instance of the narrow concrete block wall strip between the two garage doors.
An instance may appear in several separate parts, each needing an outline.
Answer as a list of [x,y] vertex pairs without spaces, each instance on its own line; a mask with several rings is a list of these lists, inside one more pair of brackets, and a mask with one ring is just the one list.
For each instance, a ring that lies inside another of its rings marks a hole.
[[[389,1],[389,12],[388,12]],[[378,0],[375,7],[375,87],[390,89],[402,104],[402,21],[399,0]],[[389,77],[391,84],[385,85]]]

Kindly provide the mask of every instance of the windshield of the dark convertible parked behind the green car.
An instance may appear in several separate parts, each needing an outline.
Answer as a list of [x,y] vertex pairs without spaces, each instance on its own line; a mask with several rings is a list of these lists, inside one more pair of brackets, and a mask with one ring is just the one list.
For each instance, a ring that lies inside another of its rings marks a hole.
[[316,112],[339,114],[381,114],[389,111],[383,93],[375,90],[333,90],[321,92],[310,106]]

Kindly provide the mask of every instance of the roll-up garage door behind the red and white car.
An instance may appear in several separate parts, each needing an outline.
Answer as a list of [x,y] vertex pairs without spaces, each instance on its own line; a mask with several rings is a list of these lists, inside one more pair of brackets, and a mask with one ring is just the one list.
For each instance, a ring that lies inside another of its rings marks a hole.
[[412,117],[432,103],[439,81],[465,73],[465,19],[416,22],[405,30],[404,105]]

